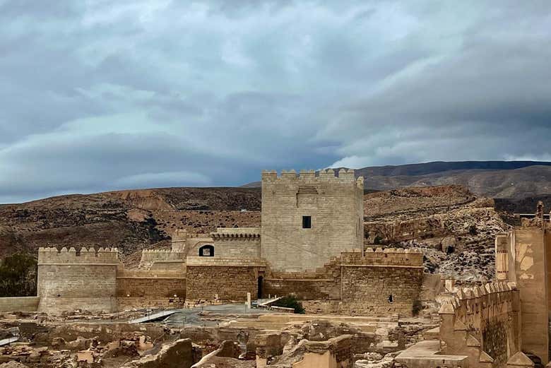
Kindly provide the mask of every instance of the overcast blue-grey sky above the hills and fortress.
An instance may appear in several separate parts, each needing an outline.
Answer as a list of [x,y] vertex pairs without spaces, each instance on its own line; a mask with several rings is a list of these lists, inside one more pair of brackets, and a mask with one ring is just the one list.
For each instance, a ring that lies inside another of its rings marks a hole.
[[0,203],[551,160],[551,3],[0,0]]

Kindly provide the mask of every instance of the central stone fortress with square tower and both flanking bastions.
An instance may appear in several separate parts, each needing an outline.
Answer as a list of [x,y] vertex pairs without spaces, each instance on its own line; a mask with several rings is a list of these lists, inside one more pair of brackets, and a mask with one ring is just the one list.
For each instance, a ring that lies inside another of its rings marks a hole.
[[297,295],[327,313],[410,316],[422,254],[364,249],[363,178],[353,170],[262,173],[261,228],[177,230],[170,250],[145,250],[125,268],[117,249],[40,248],[38,309],[241,302]]

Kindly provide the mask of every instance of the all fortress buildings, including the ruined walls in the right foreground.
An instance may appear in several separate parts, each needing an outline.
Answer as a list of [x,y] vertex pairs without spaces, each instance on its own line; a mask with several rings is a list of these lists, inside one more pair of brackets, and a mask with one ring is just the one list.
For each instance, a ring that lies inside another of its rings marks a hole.
[[[40,248],[37,297],[2,298],[0,310],[124,311],[295,294],[309,313],[407,321],[432,278],[420,251],[365,247],[362,193],[352,170],[263,172],[261,228],[179,230],[172,249],[143,251],[138,268],[124,267],[117,249]],[[494,282],[438,280],[438,327],[400,352],[396,367],[547,364],[550,217],[540,203],[521,227],[497,236]]]

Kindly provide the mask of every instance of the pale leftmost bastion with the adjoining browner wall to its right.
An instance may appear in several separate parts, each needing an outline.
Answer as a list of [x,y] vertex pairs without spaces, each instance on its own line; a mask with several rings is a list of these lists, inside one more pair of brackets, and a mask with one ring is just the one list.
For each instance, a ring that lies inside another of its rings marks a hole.
[[[144,251],[149,268],[126,270],[117,249],[40,248],[39,311],[120,311],[182,307],[186,297],[184,261],[178,252]],[[161,266],[162,265],[162,266]]]

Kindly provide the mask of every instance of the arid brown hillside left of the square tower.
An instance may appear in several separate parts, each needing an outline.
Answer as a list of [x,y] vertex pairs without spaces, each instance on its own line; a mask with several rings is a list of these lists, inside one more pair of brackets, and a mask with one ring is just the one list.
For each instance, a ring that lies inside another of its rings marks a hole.
[[[254,225],[259,189],[165,188],[45,198],[0,206],[0,256],[37,247],[167,245],[175,228],[210,232]],[[242,212],[242,210],[247,210]]]

